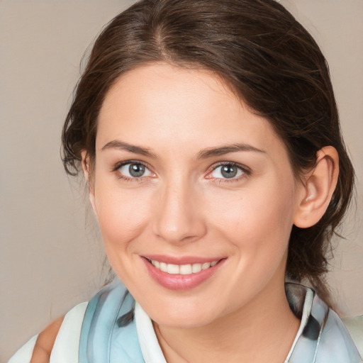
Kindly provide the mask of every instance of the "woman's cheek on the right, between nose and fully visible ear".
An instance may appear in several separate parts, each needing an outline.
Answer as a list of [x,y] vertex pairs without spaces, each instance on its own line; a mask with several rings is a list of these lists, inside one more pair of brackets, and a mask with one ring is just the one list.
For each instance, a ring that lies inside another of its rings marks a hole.
[[293,186],[268,184],[238,194],[216,194],[207,207],[214,226],[236,247],[267,255],[286,250],[294,216]]

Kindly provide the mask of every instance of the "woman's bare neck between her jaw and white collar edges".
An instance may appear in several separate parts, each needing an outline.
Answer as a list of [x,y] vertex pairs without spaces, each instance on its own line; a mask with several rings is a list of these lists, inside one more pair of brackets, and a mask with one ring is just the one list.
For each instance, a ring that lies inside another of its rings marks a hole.
[[289,308],[284,286],[272,289],[264,289],[247,306],[202,327],[154,323],[167,362],[284,362],[300,321]]

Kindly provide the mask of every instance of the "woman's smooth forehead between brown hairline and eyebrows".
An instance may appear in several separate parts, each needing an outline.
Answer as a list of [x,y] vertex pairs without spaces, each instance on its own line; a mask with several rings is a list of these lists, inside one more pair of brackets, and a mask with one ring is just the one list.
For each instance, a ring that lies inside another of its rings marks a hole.
[[269,122],[252,113],[213,72],[165,63],[135,68],[108,91],[96,149],[113,139],[160,150],[163,145],[169,150],[221,143],[281,144]]

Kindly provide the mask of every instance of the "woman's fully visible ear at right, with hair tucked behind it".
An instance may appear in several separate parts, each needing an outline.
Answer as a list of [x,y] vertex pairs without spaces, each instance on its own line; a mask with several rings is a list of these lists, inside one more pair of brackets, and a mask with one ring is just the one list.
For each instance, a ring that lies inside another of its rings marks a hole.
[[294,216],[294,225],[308,228],[323,217],[333,196],[339,174],[339,156],[333,146],[316,153],[315,167],[308,172],[302,185],[303,192]]

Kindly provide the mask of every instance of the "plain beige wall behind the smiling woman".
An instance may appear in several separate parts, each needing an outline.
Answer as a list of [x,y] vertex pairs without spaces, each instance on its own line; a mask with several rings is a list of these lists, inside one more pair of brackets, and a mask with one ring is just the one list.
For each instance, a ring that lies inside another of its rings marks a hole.
[[[104,252],[60,133],[84,50],[133,1],[0,0],[0,362],[103,283]],[[281,1],[330,65],[357,172],[357,208],[328,276],[341,313],[363,314],[363,1]]]

